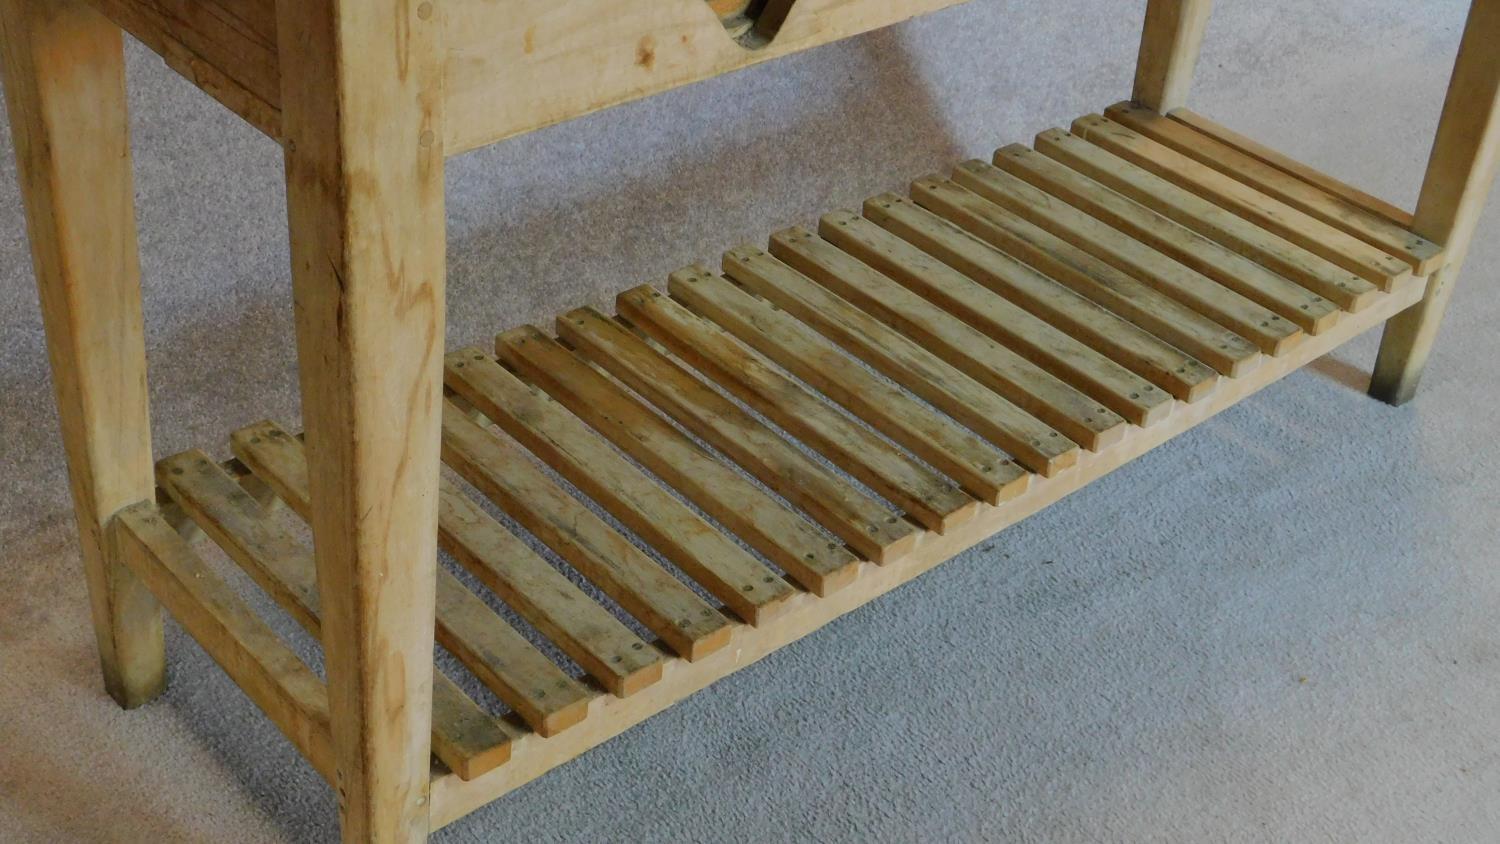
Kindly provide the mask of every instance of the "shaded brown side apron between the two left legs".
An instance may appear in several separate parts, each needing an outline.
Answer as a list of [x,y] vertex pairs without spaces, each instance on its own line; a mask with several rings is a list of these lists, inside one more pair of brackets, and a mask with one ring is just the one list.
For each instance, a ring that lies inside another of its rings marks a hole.
[[250,126],[280,136],[273,0],[88,1]]

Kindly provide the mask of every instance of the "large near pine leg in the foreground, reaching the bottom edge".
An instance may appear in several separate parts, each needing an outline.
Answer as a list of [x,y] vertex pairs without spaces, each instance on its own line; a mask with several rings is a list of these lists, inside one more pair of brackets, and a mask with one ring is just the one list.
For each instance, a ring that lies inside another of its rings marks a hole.
[[310,523],[350,843],[428,834],[444,9],[276,4]]

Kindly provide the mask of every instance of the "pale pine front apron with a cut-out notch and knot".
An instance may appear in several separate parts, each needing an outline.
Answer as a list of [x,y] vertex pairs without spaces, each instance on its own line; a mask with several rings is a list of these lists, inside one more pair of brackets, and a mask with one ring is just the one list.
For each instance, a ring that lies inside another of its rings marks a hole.
[[448,0],[452,153],[962,0],[798,0],[747,49],[704,0]]

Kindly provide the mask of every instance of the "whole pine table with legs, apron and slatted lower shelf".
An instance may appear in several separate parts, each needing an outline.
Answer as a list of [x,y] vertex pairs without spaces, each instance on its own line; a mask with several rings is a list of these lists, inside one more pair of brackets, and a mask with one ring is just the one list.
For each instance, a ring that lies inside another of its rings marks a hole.
[[[1412,397],[1494,177],[1500,0],[1472,6],[1414,213],[1186,111],[1209,1],[1150,0],[1131,102],[444,354],[447,156],[954,3],[0,0],[108,693],[160,691],[165,606],[346,841],[423,840],[1368,327],[1372,394]],[[306,432],[250,424],[226,462],[150,448],[122,30],[285,150]],[[327,684],[200,532],[321,639]]]

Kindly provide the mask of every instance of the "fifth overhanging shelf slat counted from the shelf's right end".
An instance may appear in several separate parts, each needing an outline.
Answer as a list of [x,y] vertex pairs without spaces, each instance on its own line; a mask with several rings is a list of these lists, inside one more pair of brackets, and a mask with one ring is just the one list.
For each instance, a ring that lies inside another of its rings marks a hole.
[[984,162],[966,162],[954,169],[952,180],[1088,252],[1095,261],[1078,258],[1076,264],[1086,267],[1120,300],[1113,307],[1116,313],[1161,312],[1161,300],[1167,298],[1228,328],[1266,354],[1282,354],[1302,342],[1302,330],[1292,321],[1011,172]]

